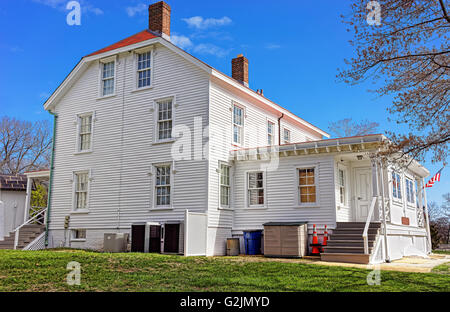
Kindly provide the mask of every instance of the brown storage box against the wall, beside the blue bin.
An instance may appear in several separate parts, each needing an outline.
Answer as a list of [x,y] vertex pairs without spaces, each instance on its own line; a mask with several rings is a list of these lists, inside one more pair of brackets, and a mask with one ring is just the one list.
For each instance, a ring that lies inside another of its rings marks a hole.
[[307,255],[307,222],[268,222],[263,225],[264,256],[301,258]]

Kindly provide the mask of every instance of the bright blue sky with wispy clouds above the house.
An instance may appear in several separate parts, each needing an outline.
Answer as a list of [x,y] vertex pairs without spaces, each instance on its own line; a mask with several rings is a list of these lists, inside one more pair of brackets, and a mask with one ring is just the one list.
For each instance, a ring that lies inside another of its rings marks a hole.
[[[42,104],[79,59],[148,25],[151,0],[80,0],[81,25],[66,23],[67,0],[0,1],[0,115],[51,119]],[[336,81],[352,56],[340,15],[345,1],[167,1],[172,38],[194,56],[230,74],[239,53],[250,62],[250,87],[314,125],[351,117],[379,122],[381,132],[404,131],[387,121],[391,98],[373,85]],[[434,174],[442,164],[425,165]],[[441,202],[450,170],[428,189]]]

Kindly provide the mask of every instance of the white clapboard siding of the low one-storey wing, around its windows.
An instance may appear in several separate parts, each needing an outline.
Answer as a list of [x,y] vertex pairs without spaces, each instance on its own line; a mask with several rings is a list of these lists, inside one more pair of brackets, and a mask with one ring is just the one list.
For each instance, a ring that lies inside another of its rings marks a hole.
[[[334,227],[336,218],[334,159],[332,156],[293,156],[280,160],[276,171],[266,172],[266,208],[247,208],[245,203],[246,171],[258,170],[259,163],[238,161],[235,176],[235,205],[233,231],[262,229],[270,221],[308,221]],[[317,198],[314,207],[297,204],[297,167],[316,166]]]

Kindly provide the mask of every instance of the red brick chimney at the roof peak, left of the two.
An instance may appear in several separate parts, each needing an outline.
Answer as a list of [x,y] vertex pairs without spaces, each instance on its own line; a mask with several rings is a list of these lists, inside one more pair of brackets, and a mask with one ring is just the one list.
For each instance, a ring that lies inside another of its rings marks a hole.
[[164,1],[149,5],[148,29],[170,40],[170,6]]

